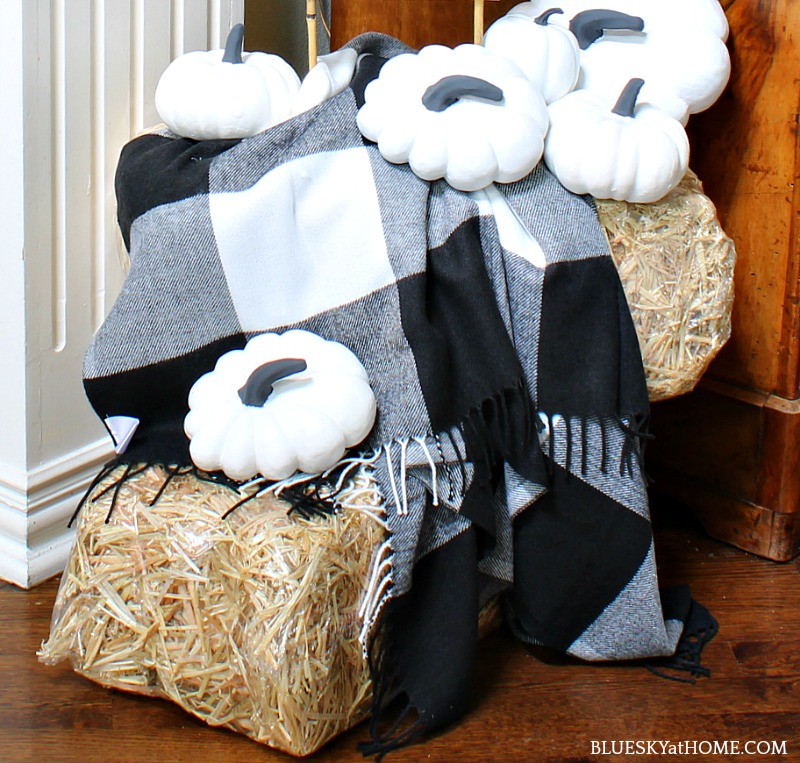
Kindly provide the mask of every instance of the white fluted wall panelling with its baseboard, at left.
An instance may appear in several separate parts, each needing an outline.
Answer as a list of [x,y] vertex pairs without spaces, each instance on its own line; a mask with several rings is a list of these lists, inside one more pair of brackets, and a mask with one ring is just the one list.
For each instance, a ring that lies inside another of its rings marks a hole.
[[244,0],[0,0],[0,578],[28,587],[63,568],[66,523],[112,453],[85,444],[102,430],[80,378],[124,277],[119,151],[159,121],[170,53],[243,19]]

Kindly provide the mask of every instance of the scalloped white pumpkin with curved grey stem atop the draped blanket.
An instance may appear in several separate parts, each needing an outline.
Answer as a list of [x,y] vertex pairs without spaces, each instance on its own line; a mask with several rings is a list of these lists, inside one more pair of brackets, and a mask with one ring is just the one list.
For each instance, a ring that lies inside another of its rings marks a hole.
[[480,45],[429,45],[384,64],[366,88],[358,126],[387,161],[476,191],[536,166],[547,106],[509,59]]

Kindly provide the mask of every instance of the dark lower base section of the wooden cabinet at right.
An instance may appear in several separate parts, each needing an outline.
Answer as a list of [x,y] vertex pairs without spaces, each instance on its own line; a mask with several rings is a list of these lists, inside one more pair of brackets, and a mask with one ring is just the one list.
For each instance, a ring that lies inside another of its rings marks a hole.
[[800,553],[800,402],[705,380],[652,409],[653,488],[715,538],[769,559]]

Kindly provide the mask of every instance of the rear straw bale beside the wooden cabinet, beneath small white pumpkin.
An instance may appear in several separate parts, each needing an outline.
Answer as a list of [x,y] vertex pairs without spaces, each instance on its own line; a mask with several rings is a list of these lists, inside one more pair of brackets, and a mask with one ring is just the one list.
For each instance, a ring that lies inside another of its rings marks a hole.
[[736,252],[691,171],[661,201],[598,200],[650,399],[691,391],[730,337]]

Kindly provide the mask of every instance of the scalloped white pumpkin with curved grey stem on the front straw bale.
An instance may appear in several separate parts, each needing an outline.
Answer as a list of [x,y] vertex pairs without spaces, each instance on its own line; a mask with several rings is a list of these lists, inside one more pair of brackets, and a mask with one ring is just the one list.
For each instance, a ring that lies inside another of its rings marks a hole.
[[330,469],[369,434],[376,413],[358,358],[300,329],[225,353],[192,386],[189,408],[194,464],[238,481]]

